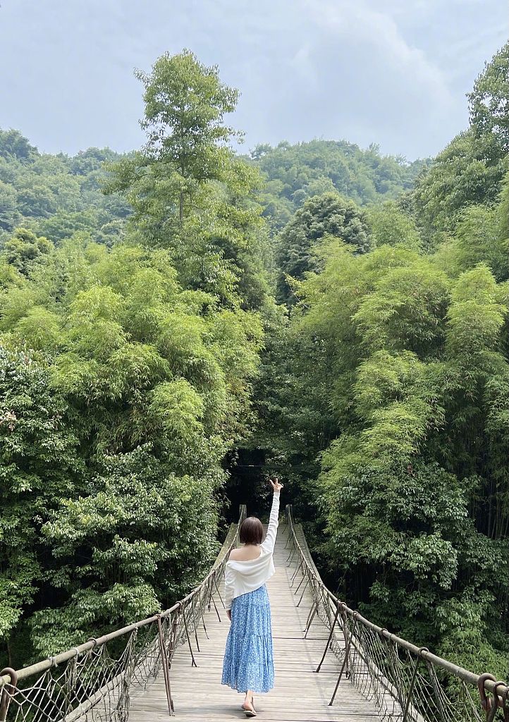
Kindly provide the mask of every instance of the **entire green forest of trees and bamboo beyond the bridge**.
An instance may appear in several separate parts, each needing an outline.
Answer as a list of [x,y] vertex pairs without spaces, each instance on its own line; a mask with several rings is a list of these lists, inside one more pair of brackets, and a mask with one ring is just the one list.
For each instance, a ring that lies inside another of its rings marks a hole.
[[507,679],[509,44],[412,162],[137,76],[133,152],[0,131],[2,666],[168,608],[271,472],[342,599]]

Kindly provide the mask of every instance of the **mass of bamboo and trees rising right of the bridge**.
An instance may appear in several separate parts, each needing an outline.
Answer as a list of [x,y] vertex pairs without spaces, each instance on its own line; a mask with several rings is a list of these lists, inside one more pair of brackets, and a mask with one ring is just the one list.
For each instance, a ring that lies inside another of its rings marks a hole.
[[[509,45],[409,195],[326,194],[277,237],[257,403],[341,597],[509,674]],[[289,471],[290,470],[290,471]],[[311,509],[311,510],[310,510]]]

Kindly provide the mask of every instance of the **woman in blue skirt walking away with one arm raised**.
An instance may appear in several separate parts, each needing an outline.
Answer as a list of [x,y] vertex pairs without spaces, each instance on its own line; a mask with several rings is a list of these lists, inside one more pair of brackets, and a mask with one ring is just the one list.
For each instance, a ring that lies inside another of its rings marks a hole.
[[242,705],[246,717],[256,717],[253,692],[274,687],[271,608],[265,586],[274,574],[274,544],[279,514],[279,492],[283,484],[271,480],[274,496],[265,540],[256,516],[240,524],[243,547],[232,549],[225,565],[225,607],[232,622],[222,665],[222,684],[245,692]]

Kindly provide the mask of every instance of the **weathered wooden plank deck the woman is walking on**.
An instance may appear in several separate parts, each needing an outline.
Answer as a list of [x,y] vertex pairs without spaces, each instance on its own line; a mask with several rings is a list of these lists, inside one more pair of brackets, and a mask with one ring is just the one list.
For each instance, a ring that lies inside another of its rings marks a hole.
[[[294,588],[290,588],[295,560],[287,567],[286,541],[286,526],[281,523],[274,549],[276,573],[267,583],[274,638],[275,684],[267,695],[254,695],[258,718],[269,722],[375,722],[379,719],[375,706],[361,697],[347,679],[341,680],[334,705],[329,707],[339,663],[334,653],[329,651],[319,674],[314,671],[328,635],[326,627],[315,616],[308,638],[303,638],[311,598],[306,592],[297,607],[302,588],[297,596],[295,588],[298,580]],[[201,652],[195,651],[199,666],[191,666],[186,645],[175,652],[170,669],[175,720],[221,722],[245,719],[240,709],[243,695],[221,684],[222,656],[230,622],[218,597],[216,603],[222,622],[217,619],[212,606],[211,612],[205,615],[209,639],[203,628],[199,632]],[[196,650],[194,639],[193,649]],[[168,718],[161,673],[144,692],[133,692],[129,722],[162,722]]]

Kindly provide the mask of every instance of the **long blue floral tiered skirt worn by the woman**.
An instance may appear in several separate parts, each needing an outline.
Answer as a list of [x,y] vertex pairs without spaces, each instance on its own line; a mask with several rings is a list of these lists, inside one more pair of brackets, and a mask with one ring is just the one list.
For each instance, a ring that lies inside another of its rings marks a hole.
[[238,692],[269,692],[274,687],[271,607],[265,585],[232,601],[222,684]]

